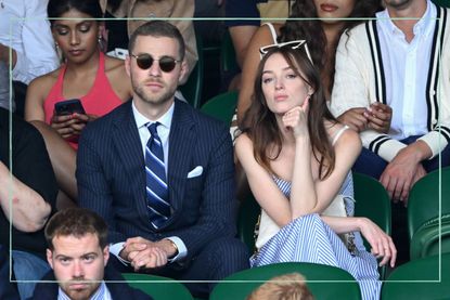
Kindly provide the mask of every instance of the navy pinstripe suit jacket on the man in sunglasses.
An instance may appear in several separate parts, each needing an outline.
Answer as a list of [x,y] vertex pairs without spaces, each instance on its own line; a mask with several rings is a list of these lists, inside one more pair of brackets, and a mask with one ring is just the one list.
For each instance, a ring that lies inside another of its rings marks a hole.
[[[234,236],[234,165],[228,128],[176,100],[169,133],[168,186],[173,208],[166,225],[151,227],[142,146],[131,101],[90,123],[77,154],[78,200],[102,216],[110,242],[180,237],[188,258],[215,237]],[[188,173],[202,166],[200,177]]]

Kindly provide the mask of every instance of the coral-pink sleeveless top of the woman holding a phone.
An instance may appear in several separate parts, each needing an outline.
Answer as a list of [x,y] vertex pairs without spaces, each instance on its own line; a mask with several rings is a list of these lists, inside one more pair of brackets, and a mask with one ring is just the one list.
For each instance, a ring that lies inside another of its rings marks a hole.
[[[54,104],[65,100],[63,96],[63,80],[67,65],[63,65],[57,80],[50,90],[49,95],[43,102],[43,112],[46,113],[46,122],[50,123],[53,116]],[[82,106],[87,114],[103,116],[124,103],[111,87],[110,80],[105,74],[105,55],[100,52],[99,68],[97,70],[95,81],[90,91],[80,97]],[[78,148],[78,144],[69,142],[74,148]]]

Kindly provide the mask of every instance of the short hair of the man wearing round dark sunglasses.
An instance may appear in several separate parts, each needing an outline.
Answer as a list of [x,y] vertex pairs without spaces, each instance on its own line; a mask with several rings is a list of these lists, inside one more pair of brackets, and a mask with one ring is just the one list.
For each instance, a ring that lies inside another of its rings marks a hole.
[[165,38],[176,39],[179,45],[179,55],[180,55],[180,57],[176,57],[176,58],[180,61],[184,58],[185,45],[184,45],[183,36],[181,36],[180,30],[178,30],[178,28],[171,25],[170,23],[155,19],[155,21],[150,21],[139,26],[138,29],[136,29],[134,32],[132,32],[130,37],[130,41],[128,43],[128,51],[130,54],[132,53],[134,49],[136,39],[139,36],[151,36],[151,37],[156,37],[156,38],[165,37]]

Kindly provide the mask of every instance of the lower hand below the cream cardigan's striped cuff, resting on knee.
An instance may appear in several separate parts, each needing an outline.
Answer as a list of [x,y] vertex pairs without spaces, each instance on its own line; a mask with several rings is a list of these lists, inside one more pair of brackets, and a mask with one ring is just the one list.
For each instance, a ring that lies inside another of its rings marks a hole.
[[423,144],[425,143],[419,141],[399,151],[380,178],[389,197],[393,200],[403,201],[404,206],[408,205],[412,185],[426,174],[421,161],[428,153],[421,152]]

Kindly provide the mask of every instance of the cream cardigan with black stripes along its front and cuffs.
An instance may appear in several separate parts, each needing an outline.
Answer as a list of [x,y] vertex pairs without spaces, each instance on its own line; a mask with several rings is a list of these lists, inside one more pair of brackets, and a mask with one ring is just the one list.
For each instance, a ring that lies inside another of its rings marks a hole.
[[[428,79],[426,82],[428,133],[420,138],[438,155],[450,141],[450,19],[449,10],[437,8]],[[386,104],[386,86],[376,19],[345,32],[336,52],[336,73],[330,109],[340,116],[352,107]],[[390,161],[406,147],[389,134],[374,130],[360,133],[362,144]]]

